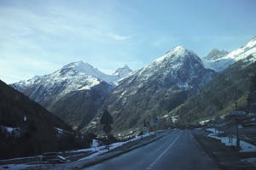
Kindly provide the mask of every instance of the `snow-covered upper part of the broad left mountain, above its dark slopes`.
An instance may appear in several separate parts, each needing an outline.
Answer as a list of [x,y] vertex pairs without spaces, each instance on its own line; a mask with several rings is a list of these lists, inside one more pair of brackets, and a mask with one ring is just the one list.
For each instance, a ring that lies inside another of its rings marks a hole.
[[45,99],[53,95],[57,100],[72,91],[90,89],[102,82],[97,77],[103,76],[105,75],[101,71],[79,61],[65,65],[49,75],[32,77],[30,80],[16,82],[12,86],[28,94],[38,103],[44,103]]

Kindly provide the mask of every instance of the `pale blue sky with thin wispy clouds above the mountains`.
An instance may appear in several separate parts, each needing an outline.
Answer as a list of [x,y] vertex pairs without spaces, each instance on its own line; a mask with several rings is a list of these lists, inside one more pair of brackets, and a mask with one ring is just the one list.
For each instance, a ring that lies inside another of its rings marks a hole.
[[200,57],[256,36],[255,0],[0,0],[0,79],[12,83],[83,60],[112,74],[177,45]]

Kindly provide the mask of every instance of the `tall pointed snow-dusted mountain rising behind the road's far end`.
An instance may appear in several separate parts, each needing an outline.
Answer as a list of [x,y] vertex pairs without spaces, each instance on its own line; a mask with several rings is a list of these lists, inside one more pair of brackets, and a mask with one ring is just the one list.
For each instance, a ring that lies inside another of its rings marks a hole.
[[[148,116],[165,115],[183,104],[214,75],[195,53],[177,46],[119,81],[102,110],[108,108],[113,115],[113,132],[136,129]],[[96,117],[83,130],[99,131],[97,120]]]

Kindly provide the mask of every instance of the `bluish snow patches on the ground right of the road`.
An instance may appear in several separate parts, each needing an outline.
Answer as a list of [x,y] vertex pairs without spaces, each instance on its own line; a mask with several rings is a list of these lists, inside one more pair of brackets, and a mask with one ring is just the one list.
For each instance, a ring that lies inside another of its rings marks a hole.
[[[207,128],[207,131],[210,131],[212,133],[209,133],[208,136],[214,139],[219,139],[223,144],[227,146],[236,146],[236,138],[232,138],[230,141],[228,137],[218,137],[216,134],[222,133],[223,131],[218,131],[215,128]],[[256,151],[256,146],[253,144],[248,144],[247,142],[240,140],[240,146],[241,150],[240,152],[247,152],[247,151]]]

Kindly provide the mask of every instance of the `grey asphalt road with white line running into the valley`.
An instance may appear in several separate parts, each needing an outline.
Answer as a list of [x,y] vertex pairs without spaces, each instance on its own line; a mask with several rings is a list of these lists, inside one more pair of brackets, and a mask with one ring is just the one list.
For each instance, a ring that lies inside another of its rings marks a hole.
[[84,170],[216,170],[189,130],[175,130],[151,144]]

